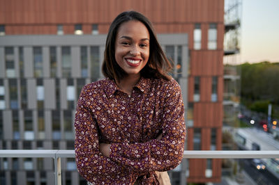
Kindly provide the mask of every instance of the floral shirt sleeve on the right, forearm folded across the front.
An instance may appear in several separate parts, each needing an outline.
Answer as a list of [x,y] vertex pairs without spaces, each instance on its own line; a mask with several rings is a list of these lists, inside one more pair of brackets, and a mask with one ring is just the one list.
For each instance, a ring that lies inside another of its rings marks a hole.
[[186,125],[179,84],[172,80],[165,89],[163,137],[146,143],[113,143],[110,158],[137,172],[172,170],[183,159]]

